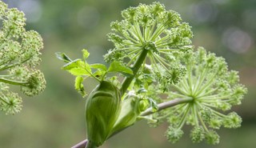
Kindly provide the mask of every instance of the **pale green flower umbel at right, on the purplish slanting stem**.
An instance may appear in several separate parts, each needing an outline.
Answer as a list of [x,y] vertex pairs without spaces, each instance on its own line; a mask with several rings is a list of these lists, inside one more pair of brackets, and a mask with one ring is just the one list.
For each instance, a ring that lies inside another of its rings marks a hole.
[[238,72],[227,69],[224,58],[207,54],[202,47],[184,54],[180,62],[186,66],[186,75],[167,94],[169,98],[189,101],[164,110],[170,122],[166,138],[177,142],[183,134],[182,126],[189,124],[194,126],[190,132],[193,142],[206,138],[207,142],[217,144],[219,136],[214,130],[241,126],[242,118],[226,111],[239,105],[247,90],[238,83]]

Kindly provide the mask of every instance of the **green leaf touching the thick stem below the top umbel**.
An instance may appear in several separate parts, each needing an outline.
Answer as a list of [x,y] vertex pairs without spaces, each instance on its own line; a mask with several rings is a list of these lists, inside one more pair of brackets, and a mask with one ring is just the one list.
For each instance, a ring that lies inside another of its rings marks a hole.
[[118,73],[124,74],[126,77],[130,77],[134,74],[133,70],[122,65],[120,62],[111,62],[108,71],[109,72],[118,72]]

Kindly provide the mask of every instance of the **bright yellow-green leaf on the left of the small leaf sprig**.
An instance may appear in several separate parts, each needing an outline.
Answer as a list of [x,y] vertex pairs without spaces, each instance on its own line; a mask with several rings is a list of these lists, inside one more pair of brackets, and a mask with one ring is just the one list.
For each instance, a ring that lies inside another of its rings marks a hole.
[[69,71],[75,76],[91,75],[90,65],[86,62],[82,62],[81,59],[75,59],[74,61],[67,63],[62,69]]

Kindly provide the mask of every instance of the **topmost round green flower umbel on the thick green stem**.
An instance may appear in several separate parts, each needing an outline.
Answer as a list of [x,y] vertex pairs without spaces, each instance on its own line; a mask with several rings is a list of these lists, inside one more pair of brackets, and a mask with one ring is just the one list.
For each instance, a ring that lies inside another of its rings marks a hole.
[[[190,26],[181,22],[179,14],[165,10],[159,2],[152,5],[140,4],[122,11],[121,22],[112,22],[114,33],[108,34],[115,48],[105,55],[106,62],[123,61],[128,58],[127,66],[132,66],[143,50],[148,50],[147,58],[154,68],[170,68],[168,58],[172,52],[189,50],[193,34]],[[126,60],[127,61],[127,60]]]

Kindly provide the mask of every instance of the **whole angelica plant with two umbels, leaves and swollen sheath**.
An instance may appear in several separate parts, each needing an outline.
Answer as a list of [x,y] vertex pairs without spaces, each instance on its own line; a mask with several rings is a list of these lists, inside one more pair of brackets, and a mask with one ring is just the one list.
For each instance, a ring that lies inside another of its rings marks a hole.
[[75,60],[56,54],[66,62],[62,69],[76,76],[74,87],[83,97],[86,78],[99,82],[86,100],[88,140],[74,148],[101,146],[142,119],[150,126],[168,122],[170,142],[182,138],[185,125],[192,126],[192,142],[210,144],[219,142],[220,127],[241,126],[242,118],[228,112],[246,94],[238,72],[228,70],[224,58],[195,50],[191,27],[177,12],[154,2],[123,10],[122,18],[110,25],[114,48],[104,55],[109,67],[88,63],[85,49]]

